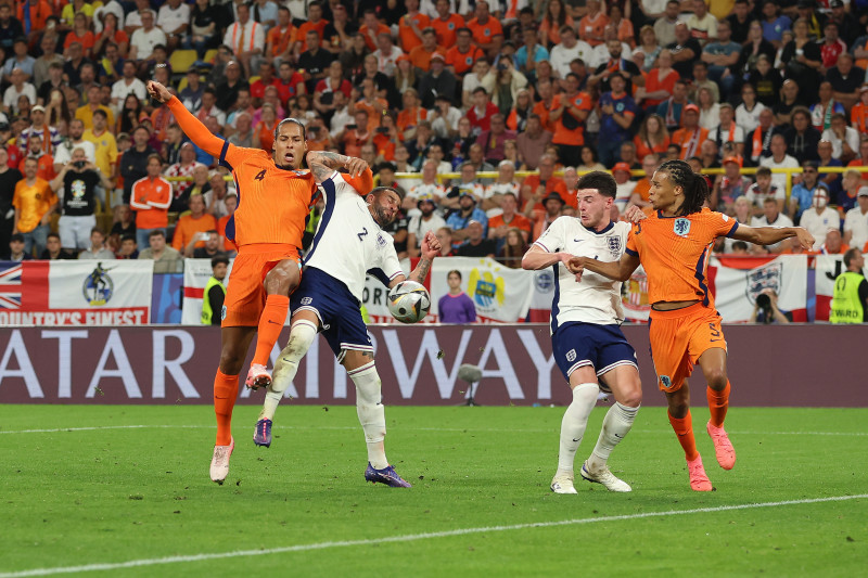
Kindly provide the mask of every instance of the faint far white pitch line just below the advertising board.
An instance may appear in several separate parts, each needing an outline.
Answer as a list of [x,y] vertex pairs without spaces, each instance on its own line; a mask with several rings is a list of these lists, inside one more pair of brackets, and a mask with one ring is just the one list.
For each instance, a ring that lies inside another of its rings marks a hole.
[[[186,429],[213,429],[214,425],[184,425],[184,424],[177,424],[177,425],[166,425],[166,424],[137,424],[137,425],[94,425],[89,427],[53,427],[53,428],[44,428],[44,429],[0,429],[0,434],[56,434],[61,432],[100,432],[103,429],[171,429],[171,428],[186,428]],[[294,426],[294,425],[276,425],[275,429],[346,429],[346,431],[356,431],[358,426],[349,426],[349,425],[324,425],[324,426],[314,426],[314,427],[302,427],[302,426]],[[524,433],[524,434],[548,434],[551,432],[556,432],[557,429],[497,429],[497,428],[485,428],[485,429],[473,429],[470,427],[400,427],[400,429],[405,429],[408,432],[467,432],[467,433],[498,433],[498,432],[510,432],[510,433]],[[669,435],[669,432],[661,432],[659,429],[631,429],[631,432],[636,434],[661,434],[665,433]],[[868,436],[866,432],[739,432],[738,429],[732,429],[729,432],[730,435],[739,435],[739,436]]]

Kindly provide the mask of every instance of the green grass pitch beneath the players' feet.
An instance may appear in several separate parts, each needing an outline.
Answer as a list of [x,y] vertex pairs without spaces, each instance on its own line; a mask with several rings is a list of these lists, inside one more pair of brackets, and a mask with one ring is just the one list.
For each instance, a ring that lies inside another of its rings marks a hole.
[[716,488],[697,493],[665,409],[644,408],[610,461],[634,491],[578,496],[549,490],[563,408],[387,408],[410,490],[363,481],[354,407],[284,403],[270,449],[257,412],[235,409],[217,486],[209,407],[0,406],[0,576],[868,573],[866,409],[733,407],[725,472],[694,408]]

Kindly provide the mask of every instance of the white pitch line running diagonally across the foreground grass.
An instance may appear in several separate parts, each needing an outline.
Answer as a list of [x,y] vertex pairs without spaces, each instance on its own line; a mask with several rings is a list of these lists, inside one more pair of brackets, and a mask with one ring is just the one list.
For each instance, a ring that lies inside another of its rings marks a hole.
[[54,568],[34,568],[30,570],[0,573],[0,578],[23,578],[27,576],[52,576],[55,574],[73,574],[79,571],[104,571],[122,568],[138,568],[143,566],[155,566],[158,564],[177,564],[184,562],[203,562],[209,560],[221,560],[243,556],[263,556],[271,554],[284,554],[290,552],[309,552],[311,550],[326,550],[330,548],[349,548],[354,545],[373,545],[382,543],[416,542],[419,540],[430,540],[435,538],[450,538],[452,536],[468,536],[471,534],[486,534],[493,531],[510,531],[534,528],[551,528],[557,526],[577,526],[584,524],[596,524],[599,522],[623,522],[628,519],[642,519],[649,517],[668,517],[688,514],[707,514],[716,512],[731,512],[735,510],[751,510],[756,508],[777,508],[782,505],[802,505],[824,502],[845,502],[851,500],[863,500],[868,498],[868,493],[855,496],[831,496],[827,498],[808,498],[804,500],[784,500],[778,502],[761,502],[736,505],[718,505],[714,508],[697,508],[693,510],[669,510],[667,512],[644,512],[640,514],[624,514],[620,516],[602,516],[591,518],[562,519],[557,522],[534,522],[528,524],[513,524],[510,526],[483,526],[476,528],[459,528],[455,530],[432,531],[424,534],[410,534],[407,536],[386,536],[383,538],[371,538],[367,540],[340,540],[333,542],[317,542],[311,544],[284,545],[280,548],[268,548],[263,550],[235,550],[233,552],[214,552],[210,554],[188,554],[181,556],[166,556],[159,558],[130,560],[128,562],[84,564],[80,566],[60,566]]

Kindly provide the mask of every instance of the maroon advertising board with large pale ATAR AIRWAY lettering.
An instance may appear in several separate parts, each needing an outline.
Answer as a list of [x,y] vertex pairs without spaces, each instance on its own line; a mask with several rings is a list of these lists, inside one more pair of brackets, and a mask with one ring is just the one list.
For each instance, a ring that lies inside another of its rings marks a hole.
[[[639,355],[642,404],[665,406],[648,329],[623,330]],[[816,362],[858,359],[864,333],[858,325],[727,325],[739,406],[868,407],[861,364]],[[572,399],[547,324],[378,325],[370,335],[386,404],[464,403],[470,386],[459,369],[465,363],[482,371],[473,394],[483,406],[565,406]],[[289,329],[279,343],[288,336]],[[271,365],[279,354],[278,345]],[[7,329],[0,332],[0,403],[210,406],[219,358],[220,331],[210,326]],[[703,383],[700,368],[693,380]],[[818,383],[835,383],[834,396]],[[244,386],[239,396],[240,403],[263,402],[261,391]],[[355,402],[353,382],[324,339],[314,341],[285,398],[286,406]]]

